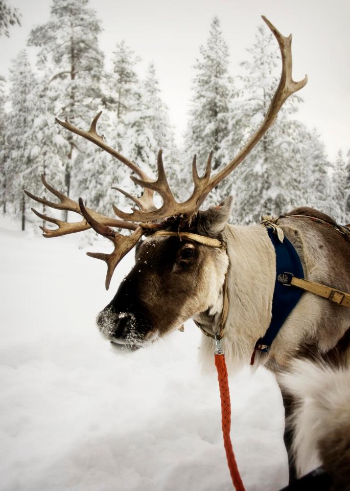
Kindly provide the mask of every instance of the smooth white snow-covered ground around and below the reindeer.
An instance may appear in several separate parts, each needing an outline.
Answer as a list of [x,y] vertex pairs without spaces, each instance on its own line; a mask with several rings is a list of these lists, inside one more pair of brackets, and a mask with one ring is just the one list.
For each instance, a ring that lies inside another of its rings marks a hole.
[[[43,239],[2,219],[0,243],[0,489],[231,490],[217,378],[200,372],[194,324],[129,355],[95,327],[133,253],[108,293],[105,265],[77,237]],[[273,377],[247,370],[230,377],[230,391],[247,491],[285,486]]]

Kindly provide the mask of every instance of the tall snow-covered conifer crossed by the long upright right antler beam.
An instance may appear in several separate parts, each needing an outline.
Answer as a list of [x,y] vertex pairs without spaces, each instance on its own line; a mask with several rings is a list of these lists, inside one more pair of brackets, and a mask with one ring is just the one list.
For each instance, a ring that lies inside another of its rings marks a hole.
[[[241,145],[252,135],[265,117],[279,80],[281,59],[273,35],[258,27],[250,59],[241,63],[245,75],[240,77],[240,96],[235,101],[232,126]],[[305,127],[291,118],[300,98],[290,97],[279,111],[273,126],[238,167],[234,175],[235,221],[249,223],[262,214],[279,214],[305,203],[301,183],[305,166],[299,150]],[[235,135],[235,139],[237,138]],[[224,142],[226,159],[232,153],[231,139]]]

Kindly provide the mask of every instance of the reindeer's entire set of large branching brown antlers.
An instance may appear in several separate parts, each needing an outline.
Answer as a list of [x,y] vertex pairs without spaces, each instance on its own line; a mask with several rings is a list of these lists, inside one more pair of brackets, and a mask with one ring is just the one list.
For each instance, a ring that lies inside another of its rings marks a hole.
[[[206,163],[206,168],[204,175],[200,177],[198,175],[197,164],[196,164],[196,155],[192,162],[192,176],[194,182],[194,190],[192,195],[183,203],[176,202],[174,195],[170,189],[167,176],[165,173],[163,161],[162,161],[162,151],[159,150],[158,159],[157,159],[157,167],[158,167],[158,177],[154,181],[152,180],[142,169],[140,169],[135,163],[131,162],[127,158],[125,158],[121,153],[109,147],[103,136],[98,135],[96,130],[96,125],[99,117],[101,116],[101,112],[95,116],[92,120],[90,128],[88,131],[82,131],[67,120],[65,122],[59,121],[56,119],[57,123],[59,123],[64,128],[80,135],[81,137],[89,140],[90,142],[95,143],[100,148],[110,153],[118,159],[123,164],[127,165],[138,177],[132,176],[131,179],[135,184],[142,186],[144,188],[144,193],[141,198],[136,198],[131,196],[126,191],[123,191],[119,188],[113,188],[129,199],[131,199],[138,207],[139,210],[135,208],[132,209],[131,213],[125,213],[119,208],[113,205],[113,209],[116,215],[118,215],[122,220],[116,220],[113,218],[109,218],[105,215],[97,213],[89,208],[85,208],[83,204],[83,200],[79,198],[79,204],[73,201],[71,198],[65,196],[63,193],[57,191],[54,187],[50,186],[42,176],[42,182],[44,186],[49,189],[55,196],[60,199],[60,203],[54,203],[46,200],[45,198],[39,198],[34,196],[28,191],[25,191],[26,194],[32,199],[36,200],[43,205],[49,206],[51,208],[56,208],[59,210],[69,210],[75,213],[79,213],[83,216],[83,220],[77,223],[68,223],[62,220],[58,220],[56,218],[51,218],[46,215],[43,215],[36,210],[33,209],[34,213],[38,215],[40,218],[50,221],[58,226],[56,230],[45,229],[41,227],[43,230],[44,237],[57,237],[59,235],[70,234],[74,232],[79,232],[83,230],[87,230],[92,227],[97,233],[107,237],[114,243],[114,251],[111,254],[102,254],[102,253],[87,253],[91,257],[96,257],[98,259],[102,259],[107,263],[107,277],[106,277],[106,288],[108,289],[110,279],[112,277],[113,271],[115,269],[116,264],[121,260],[125,254],[130,251],[136,244],[136,242],[143,235],[144,229],[153,229],[153,228],[161,228],[162,224],[147,224],[147,221],[159,220],[162,218],[167,218],[176,215],[183,215],[187,219],[191,219],[191,217],[198,211],[199,207],[203,203],[205,197],[208,193],[215,188],[227,175],[232,172],[248,155],[248,153],[253,149],[253,147],[261,140],[261,138],[265,135],[266,131],[273,124],[279,109],[281,109],[282,105],[286,101],[286,99],[299,91],[300,88],[304,87],[307,83],[307,76],[300,80],[299,82],[294,82],[292,79],[292,52],[291,52],[291,42],[292,35],[285,37],[267,20],[266,17],[262,16],[265,23],[269,27],[269,29],[274,34],[275,38],[278,41],[279,48],[281,50],[282,55],[282,73],[281,79],[277,86],[276,92],[271,100],[270,106],[264,118],[264,121],[260,125],[260,127],[255,131],[255,133],[251,136],[242,150],[236,155],[234,159],[232,159],[223,169],[221,169],[216,175],[211,177],[211,163],[213,152],[209,153],[209,157]],[[160,208],[156,208],[153,203],[153,195],[154,192],[160,194],[163,199],[163,203]],[[125,220],[130,221],[125,221]],[[134,222],[142,222],[136,224]],[[110,227],[119,227],[124,229],[133,230],[134,232],[130,236],[123,236]]]

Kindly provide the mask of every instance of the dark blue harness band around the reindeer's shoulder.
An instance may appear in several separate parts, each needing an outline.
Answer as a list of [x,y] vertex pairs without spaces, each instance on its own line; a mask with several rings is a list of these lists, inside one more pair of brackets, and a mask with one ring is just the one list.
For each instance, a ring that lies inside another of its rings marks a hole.
[[300,258],[293,245],[286,237],[281,242],[271,229],[268,229],[268,234],[276,253],[276,280],[272,298],[272,318],[265,336],[260,338],[255,344],[251,364],[254,363],[256,350],[267,352],[270,349],[279,329],[281,329],[282,324],[303,294],[300,288],[293,285],[284,285],[281,281],[278,281],[278,276],[286,272],[292,273],[297,278],[304,278]]

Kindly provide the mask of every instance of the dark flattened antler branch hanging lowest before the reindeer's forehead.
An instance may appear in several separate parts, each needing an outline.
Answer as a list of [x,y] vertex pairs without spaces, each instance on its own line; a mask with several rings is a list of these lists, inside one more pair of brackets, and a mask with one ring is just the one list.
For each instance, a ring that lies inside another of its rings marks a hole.
[[99,221],[92,217],[84,206],[82,198],[79,198],[79,206],[88,224],[97,232],[114,244],[114,250],[111,254],[88,252],[87,255],[90,257],[95,257],[96,259],[102,259],[107,263],[107,275],[106,275],[106,290],[109,288],[110,280],[114,273],[116,265],[121,259],[136,245],[136,243],[141,239],[144,231],[142,227],[137,227],[135,231],[130,236],[121,235],[115,232],[110,227],[102,225]]

